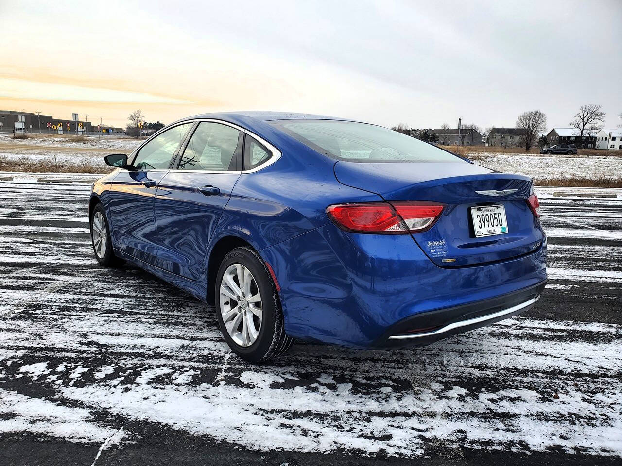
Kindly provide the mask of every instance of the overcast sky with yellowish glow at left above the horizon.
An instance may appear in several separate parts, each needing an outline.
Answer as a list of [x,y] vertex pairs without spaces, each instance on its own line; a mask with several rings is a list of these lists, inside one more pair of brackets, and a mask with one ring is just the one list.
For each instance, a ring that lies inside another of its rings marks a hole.
[[0,0],[0,109],[125,126],[282,110],[512,127],[622,123],[622,1]]

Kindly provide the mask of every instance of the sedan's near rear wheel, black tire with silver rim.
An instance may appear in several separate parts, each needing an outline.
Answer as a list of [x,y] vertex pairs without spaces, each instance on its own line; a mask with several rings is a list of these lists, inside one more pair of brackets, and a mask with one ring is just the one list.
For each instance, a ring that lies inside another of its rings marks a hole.
[[272,276],[253,249],[236,247],[225,256],[216,274],[214,296],[223,337],[242,359],[266,362],[294,344],[285,333],[281,301]]

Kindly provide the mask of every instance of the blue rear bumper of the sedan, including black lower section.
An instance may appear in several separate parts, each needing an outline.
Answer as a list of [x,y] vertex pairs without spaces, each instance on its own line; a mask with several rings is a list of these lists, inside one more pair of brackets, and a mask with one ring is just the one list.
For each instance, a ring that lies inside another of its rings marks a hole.
[[[443,268],[410,235],[353,234],[330,224],[260,254],[279,281],[287,334],[369,349],[425,345],[526,311],[547,280],[546,247],[544,238],[532,254]],[[436,333],[389,338],[413,329]]]

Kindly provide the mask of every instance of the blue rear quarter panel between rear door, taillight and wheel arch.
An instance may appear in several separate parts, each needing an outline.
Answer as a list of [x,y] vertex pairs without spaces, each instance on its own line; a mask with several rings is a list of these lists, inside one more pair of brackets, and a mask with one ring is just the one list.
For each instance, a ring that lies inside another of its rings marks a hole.
[[294,145],[284,148],[276,163],[243,173],[213,241],[234,235],[261,251],[330,223],[330,204],[380,200],[377,194],[339,183],[333,165],[334,160]]

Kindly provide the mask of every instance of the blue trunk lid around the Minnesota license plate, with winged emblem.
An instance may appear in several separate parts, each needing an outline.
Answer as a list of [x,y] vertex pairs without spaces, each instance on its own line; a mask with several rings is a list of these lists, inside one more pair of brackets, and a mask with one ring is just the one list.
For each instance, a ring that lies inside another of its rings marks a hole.
[[[498,173],[468,162],[335,163],[340,183],[379,194],[386,201],[445,204],[427,231],[412,234],[441,267],[465,267],[508,260],[540,249],[544,232],[526,203],[531,179]],[[496,191],[511,190],[495,196]],[[478,193],[477,191],[480,191]],[[482,194],[481,191],[491,191]],[[493,195],[490,195],[493,194]],[[471,208],[503,205],[507,232],[476,237]]]

